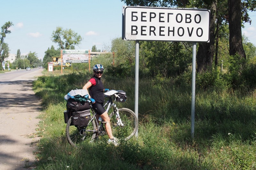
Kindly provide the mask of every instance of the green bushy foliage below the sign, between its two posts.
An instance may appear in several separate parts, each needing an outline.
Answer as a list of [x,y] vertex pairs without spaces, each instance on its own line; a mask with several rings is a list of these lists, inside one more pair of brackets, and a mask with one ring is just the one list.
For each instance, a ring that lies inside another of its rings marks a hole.
[[[184,48],[184,45],[188,47]],[[140,42],[140,69],[144,67],[152,75],[159,74],[164,77],[184,72],[192,55],[191,43],[184,45],[181,42]]]

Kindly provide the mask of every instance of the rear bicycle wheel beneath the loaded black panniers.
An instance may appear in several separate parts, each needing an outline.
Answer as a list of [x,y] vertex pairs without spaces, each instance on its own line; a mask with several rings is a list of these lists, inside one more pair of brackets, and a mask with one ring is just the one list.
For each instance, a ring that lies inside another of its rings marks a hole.
[[[90,116],[90,120],[92,116]],[[84,141],[93,142],[97,132],[92,132],[89,130],[96,130],[96,123],[94,120],[88,124],[87,127],[78,129],[72,123],[72,116],[68,119],[66,127],[66,136],[68,143],[74,147],[82,144]]]

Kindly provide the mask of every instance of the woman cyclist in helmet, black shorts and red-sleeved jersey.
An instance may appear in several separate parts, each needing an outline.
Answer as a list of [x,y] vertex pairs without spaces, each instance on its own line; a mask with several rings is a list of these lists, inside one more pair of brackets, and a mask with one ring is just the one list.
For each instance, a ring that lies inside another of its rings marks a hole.
[[93,67],[93,76],[92,78],[84,85],[83,89],[89,89],[89,99],[92,101],[92,108],[97,113],[96,118],[97,120],[99,117],[103,119],[105,123],[105,129],[108,134],[108,143],[113,143],[115,146],[118,145],[117,140],[112,135],[112,129],[110,126],[110,119],[108,113],[106,112],[105,108],[103,107],[104,103],[104,94],[103,92],[109,91],[109,89],[104,89],[104,86],[101,81],[101,77],[103,74],[104,67],[101,64],[96,64]]

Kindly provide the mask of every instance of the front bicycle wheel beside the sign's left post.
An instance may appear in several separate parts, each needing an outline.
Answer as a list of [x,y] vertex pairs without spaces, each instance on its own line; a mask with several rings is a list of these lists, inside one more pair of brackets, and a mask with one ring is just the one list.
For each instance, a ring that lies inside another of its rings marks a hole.
[[116,111],[109,115],[112,134],[114,137],[123,140],[129,140],[135,135],[138,129],[138,118],[135,113],[128,108],[118,109],[122,124],[117,122]]

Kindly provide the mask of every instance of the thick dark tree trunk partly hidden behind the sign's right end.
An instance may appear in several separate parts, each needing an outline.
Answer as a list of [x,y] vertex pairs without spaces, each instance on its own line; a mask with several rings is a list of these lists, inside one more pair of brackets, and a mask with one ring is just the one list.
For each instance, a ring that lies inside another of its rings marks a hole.
[[210,42],[199,43],[197,51],[197,72],[212,70],[215,42],[216,5],[212,3],[210,14]]

